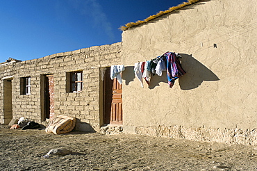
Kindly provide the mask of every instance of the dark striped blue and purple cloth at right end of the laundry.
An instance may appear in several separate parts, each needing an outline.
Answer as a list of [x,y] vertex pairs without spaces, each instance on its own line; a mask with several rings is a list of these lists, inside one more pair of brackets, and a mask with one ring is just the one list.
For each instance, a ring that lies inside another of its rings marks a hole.
[[167,79],[169,87],[172,88],[175,80],[179,79],[179,77],[183,76],[183,74],[186,72],[183,70],[175,53],[167,51],[165,54],[163,54],[163,57],[165,57],[167,61]]

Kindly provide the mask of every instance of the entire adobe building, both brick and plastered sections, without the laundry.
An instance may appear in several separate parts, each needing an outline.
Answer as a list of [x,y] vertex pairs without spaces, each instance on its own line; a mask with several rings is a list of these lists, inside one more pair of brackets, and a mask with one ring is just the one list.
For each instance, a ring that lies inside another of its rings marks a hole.
[[[256,145],[256,7],[190,0],[126,24],[122,42],[0,64],[0,122],[69,115],[83,131],[122,125],[124,133]],[[187,73],[172,88],[166,72],[141,88],[135,63],[167,51],[181,55]],[[118,64],[122,86],[110,80]]]

